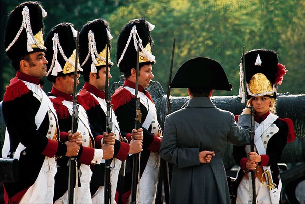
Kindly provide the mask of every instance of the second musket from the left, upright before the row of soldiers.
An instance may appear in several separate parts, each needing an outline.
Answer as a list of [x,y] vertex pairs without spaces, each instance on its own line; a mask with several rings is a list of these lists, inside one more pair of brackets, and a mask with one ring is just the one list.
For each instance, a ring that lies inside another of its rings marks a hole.
[[[109,46],[109,39],[106,38],[106,79],[105,79],[105,101],[107,104],[107,115],[106,115],[106,132],[111,133],[112,131],[112,120],[110,116],[111,111],[111,105],[110,101],[108,100],[108,46]],[[112,159],[107,159],[105,161],[105,178],[104,178],[104,203],[109,204],[111,203],[111,180],[110,180],[110,174],[111,174],[111,164]]]

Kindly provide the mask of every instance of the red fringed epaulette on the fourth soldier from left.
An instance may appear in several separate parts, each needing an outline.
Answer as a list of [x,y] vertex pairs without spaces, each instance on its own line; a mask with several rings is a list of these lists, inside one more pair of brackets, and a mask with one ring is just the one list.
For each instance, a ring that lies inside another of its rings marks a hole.
[[130,91],[119,87],[115,90],[115,93],[111,96],[111,105],[113,105],[113,110],[115,111],[119,106],[122,106],[131,101],[132,98],[135,98]]

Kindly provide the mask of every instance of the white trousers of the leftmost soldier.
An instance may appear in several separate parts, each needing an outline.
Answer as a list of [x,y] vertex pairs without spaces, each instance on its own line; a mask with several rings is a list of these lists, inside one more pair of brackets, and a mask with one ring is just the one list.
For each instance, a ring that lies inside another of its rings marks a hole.
[[20,203],[53,203],[55,174],[57,172],[55,157],[45,157],[34,184],[23,195]]

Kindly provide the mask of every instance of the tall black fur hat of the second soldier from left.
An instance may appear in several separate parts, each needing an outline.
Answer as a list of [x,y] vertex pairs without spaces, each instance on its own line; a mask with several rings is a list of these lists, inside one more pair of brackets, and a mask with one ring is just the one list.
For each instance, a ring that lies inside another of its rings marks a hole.
[[[45,45],[47,48],[46,59],[47,79],[51,82],[57,76],[64,76],[74,72],[76,58],[77,31],[71,23],[60,23],[47,34]],[[78,56],[77,56],[78,57]],[[82,71],[77,60],[77,70]]]

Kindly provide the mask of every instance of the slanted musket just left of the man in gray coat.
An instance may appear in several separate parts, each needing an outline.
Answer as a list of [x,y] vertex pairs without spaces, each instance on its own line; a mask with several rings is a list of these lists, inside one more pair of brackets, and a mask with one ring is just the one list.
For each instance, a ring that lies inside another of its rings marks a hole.
[[[174,63],[175,44],[176,44],[176,37],[174,38],[174,42],[173,42],[172,56],[171,56],[171,62],[170,62],[167,95],[166,95],[165,116],[169,115],[170,109],[171,109],[171,104],[172,104],[169,96],[170,96],[170,85],[171,85],[171,77],[172,77],[173,63]],[[164,125],[163,125],[163,128],[164,128]],[[166,172],[166,174],[164,174],[164,171]],[[164,179],[164,181],[163,181],[163,179]],[[164,159],[160,158],[158,183],[157,183],[157,194],[156,194],[156,199],[155,199],[156,204],[163,204],[163,199],[162,199],[162,183],[163,182],[164,182],[165,203],[167,204],[167,203],[169,203],[169,193],[170,193],[168,162],[166,162]]]

